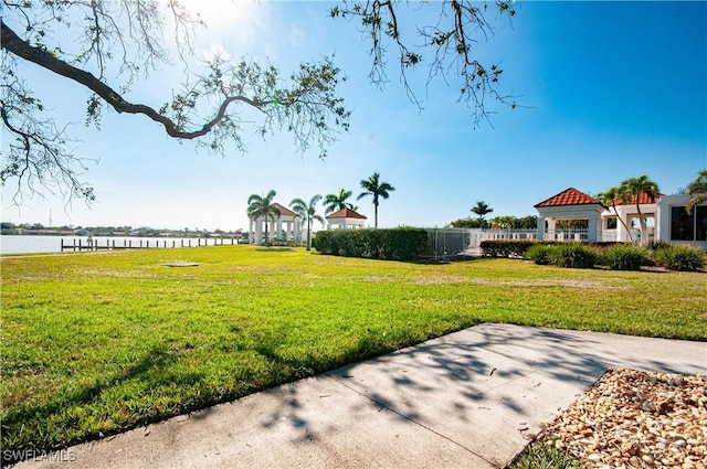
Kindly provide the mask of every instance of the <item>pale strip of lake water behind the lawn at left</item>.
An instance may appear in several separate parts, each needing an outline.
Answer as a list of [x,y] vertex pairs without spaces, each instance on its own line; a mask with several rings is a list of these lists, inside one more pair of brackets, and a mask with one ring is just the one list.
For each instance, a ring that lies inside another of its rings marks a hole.
[[[86,236],[18,236],[18,235],[3,235],[0,236],[0,254],[24,254],[24,253],[60,253],[62,251],[62,239],[64,239],[64,244],[74,243],[78,245],[81,241],[82,246],[88,245],[88,241]],[[217,242],[217,238],[175,238],[175,237],[102,237],[94,236],[93,243],[97,246],[105,246],[107,244],[115,243],[115,246],[128,245],[131,243],[133,246],[139,247],[140,243],[143,246],[151,246],[154,247],[156,243],[159,243],[159,247],[161,248],[167,242],[167,247],[171,248],[172,244],[177,247],[181,246],[183,242],[184,246],[189,245],[191,241],[192,246],[197,246],[198,243],[201,243],[203,246],[208,244],[209,246],[213,246]],[[221,239],[218,239],[219,244]],[[148,244],[149,243],[149,244]],[[224,239],[224,244],[231,244],[231,238]],[[68,249],[71,252],[71,249]]]

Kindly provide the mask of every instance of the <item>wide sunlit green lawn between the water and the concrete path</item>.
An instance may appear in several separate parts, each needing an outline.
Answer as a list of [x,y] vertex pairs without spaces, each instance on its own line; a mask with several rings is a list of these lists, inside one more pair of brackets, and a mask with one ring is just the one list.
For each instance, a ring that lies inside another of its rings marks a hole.
[[[173,262],[197,267],[167,267]],[[106,436],[479,322],[707,339],[705,274],[218,246],[2,258],[2,448]]]

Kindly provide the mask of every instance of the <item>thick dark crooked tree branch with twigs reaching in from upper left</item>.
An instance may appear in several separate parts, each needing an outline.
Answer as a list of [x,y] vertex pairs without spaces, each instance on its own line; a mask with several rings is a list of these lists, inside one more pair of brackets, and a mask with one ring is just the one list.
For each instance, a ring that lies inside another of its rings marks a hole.
[[[338,96],[346,78],[329,58],[300,64],[288,81],[272,65],[220,56],[200,60],[191,36],[193,28],[203,23],[179,1],[2,0],[2,7],[0,125],[13,139],[3,142],[0,175],[3,186],[17,182],[15,201],[41,194],[40,186],[70,200],[95,199],[93,189],[81,181],[89,158],[66,145],[67,124],[55,125],[56,117],[32,93],[46,88],[32,89],[19,76],[21,62],[91,92],[86,124],[99,128],[107,104],[118,114],[146,116],[172,138],[192,140],[197,148],[224,156],[246,151],[246,127],[263,138],[287,131],[296,152],[314,146],[321,158],[337,134],[348,130],[350,111]],[[173,28],[173,49],[165,44],[165,20]],[[133,102],[130,87],[140,74],[147,78],[158,64],[173,65],[170,50],[177,51],[183,65],[179,89],[161,106]],[[203,68],[196,70],[199,65]],[[107,71],[117,72],[116,83],[106,81]],[[261,117],[244,118],[247,109],[257,109]]]

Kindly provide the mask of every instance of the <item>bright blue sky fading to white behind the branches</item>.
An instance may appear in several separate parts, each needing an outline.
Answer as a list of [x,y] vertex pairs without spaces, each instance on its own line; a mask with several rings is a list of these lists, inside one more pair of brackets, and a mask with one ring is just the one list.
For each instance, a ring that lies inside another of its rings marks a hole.
[[[511,22],[490,13],[495,34],[478,44],[478,56],[502,65],[499,89],[523,107],[494,106],[493,127],[476,129],[469,109],[455,103],[454,78],[425,89],[426,68],[418,71],[422,111],[394,67],[382,92],[370,85],[367,44],[355,23],[327,18],[333,3],[187,3],[205,9],[203,50],[267,57],[283,72],[336,53],[354,115],[329,157],[295,154],[288,135],[249,137],[249,153],[213,157],[147,118],[115,113],[106,113],[101,130],[86,128],[88,94],[28,65],[22,72],[38,96],[59,118],[77,122],[70,128],[81,140],[76,154],[99,159],[85,174],[97,201],[66,206],[48,194],[18,210],[10,185],[2,191],[3,221],[46,224],[51,210],[55,225],[246,228],[252,193],[274,189],[284,205],[339,188],[358,195],[359,181],[379,171],[397,188],[381,202],[381,226],[442,226],[473,215],[476,201],[494,209],[490,216],[524,216],[568,186],[597,193],[644,173],[669,194],[707,168],[706,2],[518,1]],[[434,21],[437,6],[421,11]],[[418,43],[412,31],[403,34]],[[162,71],[130,97],[159,107],[178,77],[179,70]],[[372,224],[370,199],[355,203]]]

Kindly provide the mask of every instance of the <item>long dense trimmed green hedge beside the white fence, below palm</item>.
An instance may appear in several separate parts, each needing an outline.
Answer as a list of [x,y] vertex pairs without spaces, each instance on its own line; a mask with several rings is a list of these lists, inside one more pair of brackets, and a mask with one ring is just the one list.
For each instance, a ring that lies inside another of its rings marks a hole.
[[426,245],[428,232],[411,227],[318,232],[312,242],[321,254],[389,260],[416,259]]

